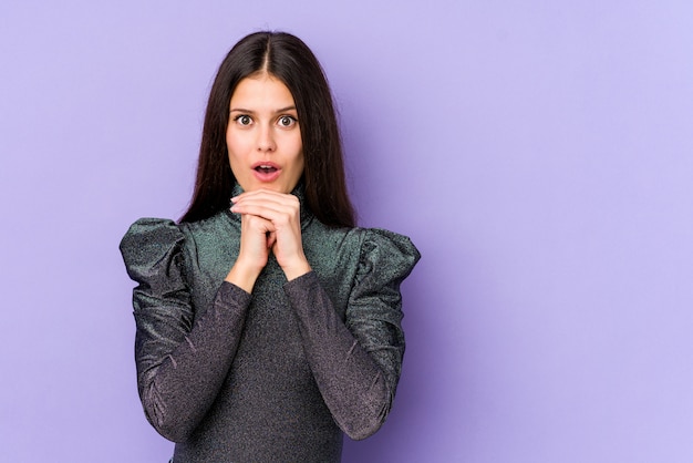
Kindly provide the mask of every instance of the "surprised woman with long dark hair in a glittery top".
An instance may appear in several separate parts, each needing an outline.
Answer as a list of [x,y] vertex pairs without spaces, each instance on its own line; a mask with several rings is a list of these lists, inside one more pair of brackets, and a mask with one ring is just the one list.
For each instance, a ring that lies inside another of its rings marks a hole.
[[231,49],[188,210],[137,220],[121,251],[138,284],[139,397],[174,462],[339,462],[342,431],[384,422],[400,284],[420,256],[354,227],[330,90],[298,38]]

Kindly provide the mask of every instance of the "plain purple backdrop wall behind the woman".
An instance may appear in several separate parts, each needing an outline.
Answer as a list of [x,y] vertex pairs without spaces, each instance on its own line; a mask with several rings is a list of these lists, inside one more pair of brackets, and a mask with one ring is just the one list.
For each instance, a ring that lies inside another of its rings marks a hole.
[[164,462],[117,251],[189,198],[229,47],[303,38],[361,224],[410,235],[345,462],[693,461],[693,2],[3,1],[0,461]]

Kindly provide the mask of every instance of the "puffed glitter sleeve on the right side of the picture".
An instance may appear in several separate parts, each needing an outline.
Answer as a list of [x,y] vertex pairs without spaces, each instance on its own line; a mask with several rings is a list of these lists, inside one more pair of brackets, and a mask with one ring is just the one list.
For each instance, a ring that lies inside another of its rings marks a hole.
[[356,440],[377,431],[390,413],[404,353],[400,285],[421,257],[402,235],[363,233],[345,321],[314,272],[285,286],[325,404],[342,431]]

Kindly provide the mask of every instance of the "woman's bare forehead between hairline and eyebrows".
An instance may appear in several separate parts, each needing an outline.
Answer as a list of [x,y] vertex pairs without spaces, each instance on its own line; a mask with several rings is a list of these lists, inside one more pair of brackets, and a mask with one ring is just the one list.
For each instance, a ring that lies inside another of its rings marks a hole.
[[293,96],[287,85],[271,74],[251,75],[241,80],[236,85],[230,101],[231,110],[236,106],[275,110],[293,104]]

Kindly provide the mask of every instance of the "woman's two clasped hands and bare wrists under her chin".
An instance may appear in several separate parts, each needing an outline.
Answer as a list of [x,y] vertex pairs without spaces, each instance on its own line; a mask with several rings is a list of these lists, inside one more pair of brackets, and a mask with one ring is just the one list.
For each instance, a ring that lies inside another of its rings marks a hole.
[[226,280],[252,292],[270,251],[290,281],[311,270],[301,241],[299,199],[269,189],[231,198],[231,212],[240,214],[240,249]]

